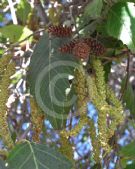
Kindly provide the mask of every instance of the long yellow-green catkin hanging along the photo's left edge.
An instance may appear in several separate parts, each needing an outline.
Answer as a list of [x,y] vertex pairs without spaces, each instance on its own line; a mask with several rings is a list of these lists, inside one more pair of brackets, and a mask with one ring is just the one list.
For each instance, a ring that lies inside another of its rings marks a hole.
[[12,148],[13,141],[11,139],[11,135],[7,123],[6,102],[9,95],[8,87],[10,85],[10,76],[15,73],[15,64],[14,63],[8,64],[9,61],[8,59],[6,61],[7,61],[7,65],[6,65],[7,67],[2,75],[2,79],[0,82],[0,134],[5,145],[8,148]]

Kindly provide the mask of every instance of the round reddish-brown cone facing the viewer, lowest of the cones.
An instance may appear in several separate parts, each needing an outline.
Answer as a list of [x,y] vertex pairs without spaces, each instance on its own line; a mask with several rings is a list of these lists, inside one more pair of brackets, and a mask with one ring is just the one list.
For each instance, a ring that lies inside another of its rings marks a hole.
[[78,42],[73,48],[73,55],[80,59],[88,59],[90,47],[85,42]]

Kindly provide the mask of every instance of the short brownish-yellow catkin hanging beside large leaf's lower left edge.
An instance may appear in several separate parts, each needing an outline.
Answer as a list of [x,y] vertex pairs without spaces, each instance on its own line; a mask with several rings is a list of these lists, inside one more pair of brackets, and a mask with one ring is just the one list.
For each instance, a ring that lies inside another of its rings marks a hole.
[[34,98],[30,98],[30,105],[31,105],[31,122],[33,124],[33,141],[40,142],[40,133],[42,132],[43,122],[44,122],[44,114],[42,110],[37,105]]

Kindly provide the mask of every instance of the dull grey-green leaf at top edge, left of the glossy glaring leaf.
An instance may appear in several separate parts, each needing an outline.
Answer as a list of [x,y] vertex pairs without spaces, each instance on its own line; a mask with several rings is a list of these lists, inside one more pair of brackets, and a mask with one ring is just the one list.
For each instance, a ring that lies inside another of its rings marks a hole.
[[97,18],[100,16],[103,7],[102,0],[93,0],[90,2],[84,11],[84,17]]

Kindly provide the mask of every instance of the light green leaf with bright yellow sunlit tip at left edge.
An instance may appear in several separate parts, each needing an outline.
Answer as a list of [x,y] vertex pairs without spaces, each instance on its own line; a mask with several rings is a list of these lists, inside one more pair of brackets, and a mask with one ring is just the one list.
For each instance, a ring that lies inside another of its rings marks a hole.
[[8,25],[0,28],[0,32],[11,42],[18,42],[32,34],[32,31],[20,25]]

